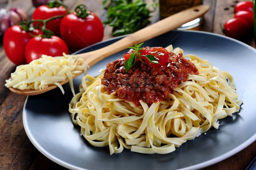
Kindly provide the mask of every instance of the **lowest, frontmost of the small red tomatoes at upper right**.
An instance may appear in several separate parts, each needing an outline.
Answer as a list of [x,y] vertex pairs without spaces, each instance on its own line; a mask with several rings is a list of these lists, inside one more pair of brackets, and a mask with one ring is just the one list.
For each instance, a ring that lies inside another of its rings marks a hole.
[[224,33],[227,37],[240,38],[248,31],[248,23],[242,18],[231,18],[224,24]]

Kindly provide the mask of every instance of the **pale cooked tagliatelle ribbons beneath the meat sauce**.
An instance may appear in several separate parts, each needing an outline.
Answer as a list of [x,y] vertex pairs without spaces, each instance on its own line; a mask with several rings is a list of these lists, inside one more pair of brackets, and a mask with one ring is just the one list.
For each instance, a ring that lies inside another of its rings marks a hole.
[[[172,46],[168,51],[180,53]],[[186,55],[198,69],[188,75],[163,101],[148,105],[140,100],[135,107],[109,93],[101,79],[85,75],[80,92],[69,103],[75,125],[81,126],[85,139],[95,147],[109,146],[110,155],[124,148],[147,154],[166,154],[175,147],[205,133],[218,129],[218,119],[232,116],[242,104],[238,100],[232,75],[214,67],[207,60]]]

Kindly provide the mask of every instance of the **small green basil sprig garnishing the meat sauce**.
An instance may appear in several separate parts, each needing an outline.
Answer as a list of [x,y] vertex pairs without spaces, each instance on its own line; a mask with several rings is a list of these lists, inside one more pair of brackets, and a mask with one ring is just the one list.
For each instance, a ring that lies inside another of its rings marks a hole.
[[155,57],[151,54],[141,55],[141,51],[139,51],[139,50],[143,50],[143,48],[140,48],[140,46],[142,44],[143,43],[141,43],[139,45],[135,44],[135,47],[128,47],[128,48],[133,48],[135,50],[135,53],[132,53],[131,56],[129,57],[129,59],[126,60],[124,63],[124,68],[125,68],[126,73],[128,72],[128,70],[130,70],[130,68],[132,68],[132,66],[134,66],[136,58],[145,64],[145,62],[141,59],[142,56],[146,57],[149,60],[149,62],[156,63],[156,64],[159,63],[156,61]]

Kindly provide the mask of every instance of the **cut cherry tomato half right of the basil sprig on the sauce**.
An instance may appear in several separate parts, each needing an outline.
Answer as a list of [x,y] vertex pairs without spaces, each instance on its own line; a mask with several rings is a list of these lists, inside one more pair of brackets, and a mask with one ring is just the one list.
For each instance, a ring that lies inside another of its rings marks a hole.
[[152,63],[145,57],[145,62],[149,64],[152,67],[159,67],[164,65],[168,58],[169,53],[168,51],[163,47],[153,47],[146,51],[146,55],[153,55],[158,63]]

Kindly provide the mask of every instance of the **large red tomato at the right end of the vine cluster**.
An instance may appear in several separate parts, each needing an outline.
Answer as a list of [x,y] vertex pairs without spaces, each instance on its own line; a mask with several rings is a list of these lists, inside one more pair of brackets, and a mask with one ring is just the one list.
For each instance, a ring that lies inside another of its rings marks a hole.
[[99,17],[93,12],[85,18],[79,18],[73,12],[61,20],[60,34],[69,50],[75,52],[102,41],[104,28]]

